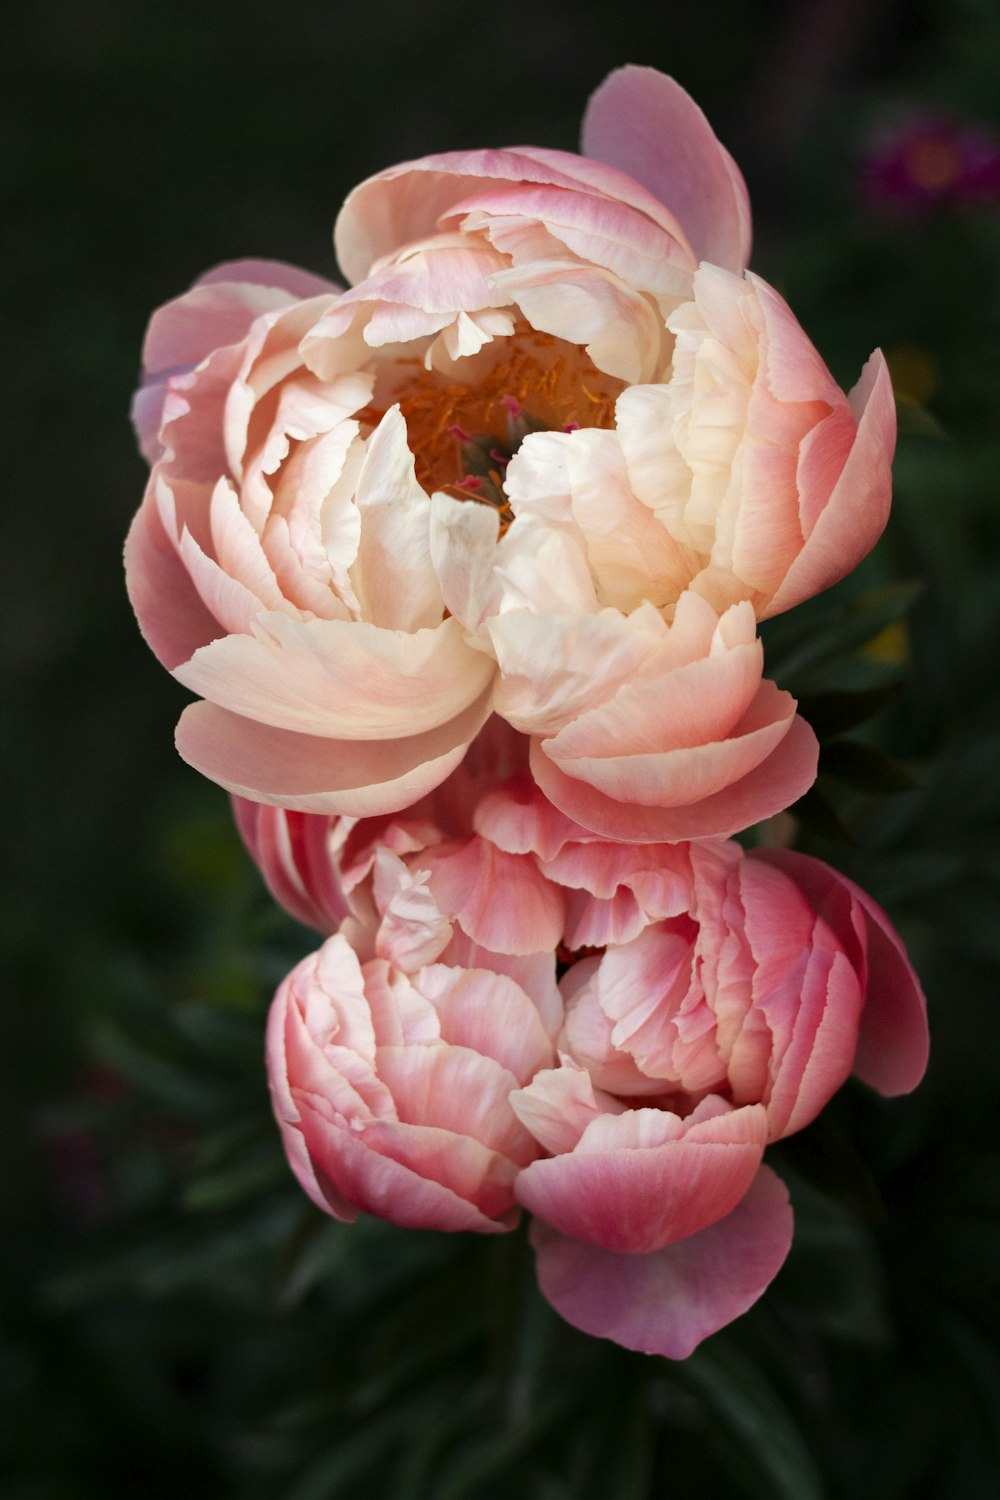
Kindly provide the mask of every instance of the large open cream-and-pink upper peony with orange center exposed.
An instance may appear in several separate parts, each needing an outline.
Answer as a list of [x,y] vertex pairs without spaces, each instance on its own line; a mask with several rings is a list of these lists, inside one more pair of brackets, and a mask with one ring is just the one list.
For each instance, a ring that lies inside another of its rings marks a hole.
[[742,178],[675,82],[612,74],[583,150],[390,168],[337,220],[349,290],[241,262],[154,315],[129,590],[235,795],[391,813],[493,708],[618,837],[811,783],[756,618],[882,530],[885,368],[843,396],[744,276]]

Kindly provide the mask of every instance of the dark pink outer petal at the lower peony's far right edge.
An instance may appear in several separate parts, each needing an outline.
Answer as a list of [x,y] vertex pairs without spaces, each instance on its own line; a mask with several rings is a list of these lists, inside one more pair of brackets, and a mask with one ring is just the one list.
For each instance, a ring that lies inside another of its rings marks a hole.
[[813,909],[831,922],[849,952],[852,933],[846,928],[853,912],[846,912],[844,892],[858,903],[868,962],[855,1072],[889,1098],[909,1094],[927,1070],[927,1000],[886,914],[853,880],[810,855],[790,849],[756,849],[751,858],[766,860],[789,874]]

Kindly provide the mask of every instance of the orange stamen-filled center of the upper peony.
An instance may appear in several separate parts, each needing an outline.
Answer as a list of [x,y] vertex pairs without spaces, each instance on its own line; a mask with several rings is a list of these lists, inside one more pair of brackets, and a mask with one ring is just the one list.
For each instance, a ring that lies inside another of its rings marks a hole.
[[[393,398],[358,412],[375,428],[391,400],[406,420],[417,482],[430,494],[493,506],[501,534],[513,520],[504,490],[507,465],[529,432],[612,428],[624,381],[598,370],[576,344],[522,324],[510,339],[459,368],[474,378],[459,381],[427,370],[418,358],[397,360],[402,375]],[[405,368],[409,372],[405,374]]]

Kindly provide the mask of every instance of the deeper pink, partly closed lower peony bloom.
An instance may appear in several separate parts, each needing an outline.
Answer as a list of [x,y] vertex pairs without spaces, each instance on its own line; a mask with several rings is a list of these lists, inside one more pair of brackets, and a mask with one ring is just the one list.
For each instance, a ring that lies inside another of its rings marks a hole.
[[340,922],[268,1026],[313,1202],[480,1233],[529,1209],[543,1293],[630,1348],[685,1358],[778,1272],[769,1142],[852,1071],[924,1072],[900,939],[817,860],[603,840],[523,771],[399,819],[241,822],[273,890]]

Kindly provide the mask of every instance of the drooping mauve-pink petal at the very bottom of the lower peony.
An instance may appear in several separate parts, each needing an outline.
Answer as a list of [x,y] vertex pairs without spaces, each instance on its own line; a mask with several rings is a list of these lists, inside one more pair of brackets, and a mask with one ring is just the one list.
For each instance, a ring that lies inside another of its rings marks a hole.
[[726,1218],[651,1256],[621,1256],[531,1227],[538,1286],[561,1317],[595,1338],[687,1359],[762,1296],[792,1246],[781,1179],[762,1167]]

